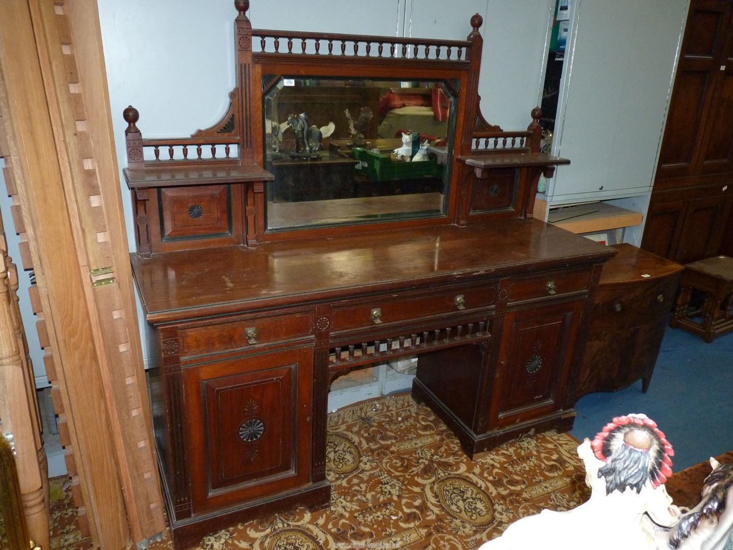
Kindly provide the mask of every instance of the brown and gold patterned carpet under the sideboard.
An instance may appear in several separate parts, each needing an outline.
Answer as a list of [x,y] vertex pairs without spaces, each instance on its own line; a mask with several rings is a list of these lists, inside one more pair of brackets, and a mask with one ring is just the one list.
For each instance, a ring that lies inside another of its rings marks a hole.
[[[427,406],[409,395],[380,397],[328,415],[330,507],[239,524],[205,537],[200,548],[475,549],[517,518],[588,498],[576,447],[571,436],[547,432],[472,462]],[[733,452],[719,459],[733,462]],[[674,502],[698,502],[709,472],[703,463],[672,476],[666,485]],[[66,478],[51,480],[51,496],[51,548],[91,549],[75,525]]]

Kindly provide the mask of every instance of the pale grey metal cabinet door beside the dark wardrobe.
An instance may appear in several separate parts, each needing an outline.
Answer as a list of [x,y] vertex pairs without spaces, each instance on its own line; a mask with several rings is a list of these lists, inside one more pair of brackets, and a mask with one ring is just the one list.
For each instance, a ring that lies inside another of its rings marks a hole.
[[550,203],[651,189],[688,0],[575,0]]

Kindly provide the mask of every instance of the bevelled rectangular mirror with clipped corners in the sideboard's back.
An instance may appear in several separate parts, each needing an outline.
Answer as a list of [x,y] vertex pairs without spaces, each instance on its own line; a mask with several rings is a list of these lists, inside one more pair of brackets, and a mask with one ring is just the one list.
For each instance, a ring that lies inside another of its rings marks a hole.
[[452,155],[456,101],[442,81],[278,77],[262,98],[268,232],[444,216],[436,151]]

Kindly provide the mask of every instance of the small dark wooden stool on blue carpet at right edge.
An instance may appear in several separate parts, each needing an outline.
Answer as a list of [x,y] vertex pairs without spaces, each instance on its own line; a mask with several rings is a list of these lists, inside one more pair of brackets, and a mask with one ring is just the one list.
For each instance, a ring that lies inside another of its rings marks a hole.
[[[701,334],[708,344],[718,336],[733,329],[733,258],[715,256],[706,260],[688,263],[679,283],[677,309],[669,326],[682,327],[695,334]],[[704,293],[699,309],[690,311],[693,290]],[[701,322],[694,320],[701,316]]]

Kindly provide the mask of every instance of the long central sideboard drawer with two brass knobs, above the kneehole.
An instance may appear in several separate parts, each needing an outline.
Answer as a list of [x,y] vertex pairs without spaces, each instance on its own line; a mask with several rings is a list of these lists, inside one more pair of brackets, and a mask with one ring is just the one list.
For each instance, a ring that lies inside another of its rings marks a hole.
[[334,330],[358,329],[383,323],[399,323],[432,315],[445,315],[494,304],[495,286],[456,287],[438,290],[377,296],[367,302],[334,307]]

